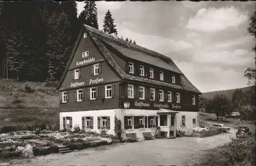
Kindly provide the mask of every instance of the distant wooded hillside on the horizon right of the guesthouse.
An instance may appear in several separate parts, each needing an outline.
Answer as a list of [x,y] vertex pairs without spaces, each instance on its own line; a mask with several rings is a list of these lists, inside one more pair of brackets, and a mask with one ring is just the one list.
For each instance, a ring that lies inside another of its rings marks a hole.
[[[251,91],[253,87],[254,87],[254,86],[248,86],[248,87],[243,87],[243,88],[238,88],[238,89],[242,89],[243,92],[246,92],[246,91]],[[255,88],[255,87],[254,87],[254,88]],[[225,94],[225,96],[226,96],[229,100],[231,100],[231,99],[232,99],[233,92],[234,92],[235,90],[236,90],[236,89],[228,89],[228,90],[217,90],[217,91],[205,92],[205,93],[203,93],[202,97],[204,97],[204,98],[206,98],[206,99],[213,98],[217,92],[220,92],[220,93],[222,93],[222,94]]]

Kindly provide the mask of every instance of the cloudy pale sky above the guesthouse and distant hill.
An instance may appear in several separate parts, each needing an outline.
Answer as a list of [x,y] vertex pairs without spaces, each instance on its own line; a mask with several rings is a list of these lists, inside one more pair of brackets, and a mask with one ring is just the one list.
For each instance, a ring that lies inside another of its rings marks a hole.
[[[99,29],[109,9],[118,37],[172,58],[201,92],[247,86],[255,44],[247,32],[254,2],[96,2]],[[78,13],[84,3],[77,2]]]

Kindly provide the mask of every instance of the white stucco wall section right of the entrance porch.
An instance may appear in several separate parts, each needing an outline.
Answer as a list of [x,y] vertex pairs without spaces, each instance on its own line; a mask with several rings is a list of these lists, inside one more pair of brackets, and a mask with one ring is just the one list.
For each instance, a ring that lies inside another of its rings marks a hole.
[[[198,117],[197,117],[198,112],[185,112],[185,111],[180,111],[177,113],[177,130],[183,130],[187,131],[188,128],[191,127],[197,127],[198,123]],[[182,127],[181,126],[181,118],[182,116],[185,115],[185,124],[186,126]],[[193,118],[196,118],[196,124],[193,124]]]

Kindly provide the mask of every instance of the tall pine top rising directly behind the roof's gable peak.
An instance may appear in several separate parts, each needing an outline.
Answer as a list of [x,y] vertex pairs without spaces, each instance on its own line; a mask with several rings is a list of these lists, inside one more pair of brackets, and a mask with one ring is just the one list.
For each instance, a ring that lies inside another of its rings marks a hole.
[[78,18],[80,23],[99,29],[96,3],[94,1],[86,1],[84,4],[86,4],[83,7],[84,10]]

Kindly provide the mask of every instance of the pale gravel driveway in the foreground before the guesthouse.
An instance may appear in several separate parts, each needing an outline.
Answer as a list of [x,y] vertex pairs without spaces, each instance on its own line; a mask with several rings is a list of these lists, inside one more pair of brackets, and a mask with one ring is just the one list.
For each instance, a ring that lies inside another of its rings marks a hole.
[[14,159],[11,165],[184,165],[203,150],[215,148],[236,136],[236,130],[228,133],[197,138],[178,137],[175,139],[155,139],[137,143],[113,144],[88,148],[67,154],[50,154],[31,160]]

